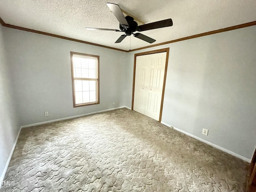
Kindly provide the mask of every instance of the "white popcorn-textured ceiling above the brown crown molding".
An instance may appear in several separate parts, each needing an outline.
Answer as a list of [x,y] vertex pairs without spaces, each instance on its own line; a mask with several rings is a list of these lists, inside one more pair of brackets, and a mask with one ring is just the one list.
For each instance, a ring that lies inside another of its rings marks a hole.
[[133,36],[115,44],[121,32],[86,30],[119,29],[107,2],[145,23],[172,18],[172,27],[141,32],[156,39],[153,44],[256,21],[256,0],[1,0],[0,17],[6,24],[123,50],[151,45]]

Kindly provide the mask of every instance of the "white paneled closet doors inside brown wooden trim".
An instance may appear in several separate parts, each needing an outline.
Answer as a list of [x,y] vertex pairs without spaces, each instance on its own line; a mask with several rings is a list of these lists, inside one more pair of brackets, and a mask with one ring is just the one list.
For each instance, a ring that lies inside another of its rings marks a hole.
[[159,120],[166,52],[136,57],[134,110]]

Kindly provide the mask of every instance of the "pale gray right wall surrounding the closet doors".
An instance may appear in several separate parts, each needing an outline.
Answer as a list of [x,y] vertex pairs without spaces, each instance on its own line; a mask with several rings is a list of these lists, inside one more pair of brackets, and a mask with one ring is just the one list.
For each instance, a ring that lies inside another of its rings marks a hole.
[[[170,47],[162,122],[251,159],[256,147],[256,26],[129,53]],[[202,135],[202,128],[209,130]]]

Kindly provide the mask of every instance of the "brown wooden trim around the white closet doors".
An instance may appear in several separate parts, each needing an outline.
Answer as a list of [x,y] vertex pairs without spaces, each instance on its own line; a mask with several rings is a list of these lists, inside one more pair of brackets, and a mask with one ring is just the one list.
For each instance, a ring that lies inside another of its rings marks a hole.
[[163,83],[163,90],[162,90],[162,98],[161,98],[159,122],[161,122],[161,120],[162,120],[162,110],[163,110],[163,104],[164,104],[164,90],[165,90],[165,84],[166,84],[166,75],[167,75],[167,66],[168,66],[169,50],[170,50],[170,48],[163,48],[163,49],[158,49],[158,50],[153,50],[153,51],[147,51],[147,52],[142,52],[142,53],[136,53],[136,54],[134,54],[133,81],[132,81],[132,110],[133,110],[133,104],[134,104],[134,87],[135,87],[136,57],[137,57],[137,56],[141,56],[141,55],[150,55],[150,54],[155,54],[155,53],[166,52],[166,60],[165,60],[165,68],[164,68],[164,83]]

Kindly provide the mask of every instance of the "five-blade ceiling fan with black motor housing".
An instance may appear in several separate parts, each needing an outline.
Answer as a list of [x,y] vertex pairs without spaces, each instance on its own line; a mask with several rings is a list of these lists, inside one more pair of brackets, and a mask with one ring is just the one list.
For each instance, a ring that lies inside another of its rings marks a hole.
[[172,19],[166,19],[161,20],[153,23],[148,23],[144,25],[138,26],[138,23],[134,21],[134,18],[131,16],[124,16],[122,13],[122,10],[120,9],[118,4],[114,3],[107,3],[108,8],[111,10],[111,12],[116,16],[117,20],[119,21],[120,30],[117,29],[103,29],[103,28],[86,28],[87,30],[105,30],[105,31],[115,31],[115,32],[125,32],[125,34],[121,35],[118,40],[116,40],[115,43],[120,43],[126,36],[130,36],[133,34],[134,37],[139,38],[141,40],[144,40],[149,43],[153,43],[156,40],[143,35],[141,33],[134,33],[136,31],[146,31],[151,29],[157,29],[157,28],[163,28],[163,27],[169,27],[172,26]]

